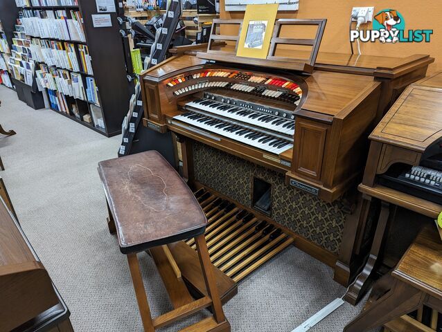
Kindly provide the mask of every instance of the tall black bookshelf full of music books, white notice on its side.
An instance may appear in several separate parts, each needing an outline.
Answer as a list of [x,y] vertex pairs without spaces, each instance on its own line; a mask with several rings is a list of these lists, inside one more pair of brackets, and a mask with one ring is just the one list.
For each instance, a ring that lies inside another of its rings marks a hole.
[[[28,0],[20,8],[31,36],[36,80],[45,88],[50,109],[104,136],[118,135],[130,90],[117,12],[104,14],[110,15],[111,27],[94,28],[91,15],[103,15],[96,2],[70,1],[60,6],[68,1]],[[38,31],[33,30],[35,20]]]

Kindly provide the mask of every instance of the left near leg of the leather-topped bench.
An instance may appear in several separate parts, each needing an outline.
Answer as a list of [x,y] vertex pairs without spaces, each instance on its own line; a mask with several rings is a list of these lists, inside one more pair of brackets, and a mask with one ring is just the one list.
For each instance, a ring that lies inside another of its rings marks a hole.
[[136,302],[140,309],[141,320],[143,321],[143,327],[145,332],[154,332],[154,324],[152,323],[152,316],[150,315],[150,308],[148,304],[148,297],[145,294],[143,278],[141,277],[141,270],[138,258],[136,254],[127,255],[127,261],[129,262],[130,275],[132,276],[132,282],[134,284],[134,290],[136,295]]

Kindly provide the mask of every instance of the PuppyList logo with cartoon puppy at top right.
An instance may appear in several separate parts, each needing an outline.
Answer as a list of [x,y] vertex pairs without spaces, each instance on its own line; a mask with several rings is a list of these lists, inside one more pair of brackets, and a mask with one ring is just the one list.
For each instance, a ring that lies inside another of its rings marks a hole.
[[394,9],[384,9],[375,15],[373,30],[350,30],[350,41],[374,43],[379,40],[382,43],[421,43],[430,42],[433,30],[405,30],[404,17]]

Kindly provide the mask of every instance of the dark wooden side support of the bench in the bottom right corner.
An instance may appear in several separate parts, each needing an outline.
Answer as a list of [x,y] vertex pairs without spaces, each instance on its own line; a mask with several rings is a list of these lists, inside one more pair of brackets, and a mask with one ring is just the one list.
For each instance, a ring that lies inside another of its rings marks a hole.
[[425,294],[418,289],[395,279],[386,294],[373,300],[362,313],[350,322],[344,332],[365,332],[406,315],[419,308]]

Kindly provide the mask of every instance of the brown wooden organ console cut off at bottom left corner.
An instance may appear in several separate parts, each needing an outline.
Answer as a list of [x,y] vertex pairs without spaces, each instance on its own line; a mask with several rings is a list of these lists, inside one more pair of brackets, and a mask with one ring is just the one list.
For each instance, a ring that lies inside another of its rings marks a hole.
[[0,196],[0,331],[73,332],[69,309]]

